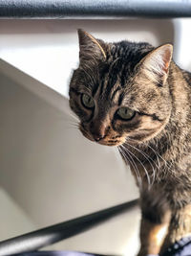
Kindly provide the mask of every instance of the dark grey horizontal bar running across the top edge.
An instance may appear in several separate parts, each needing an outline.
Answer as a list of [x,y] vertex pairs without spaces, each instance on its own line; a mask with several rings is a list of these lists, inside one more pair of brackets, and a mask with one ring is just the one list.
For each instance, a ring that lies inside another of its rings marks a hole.
[[191,17],[190,0],[0,0],[1,18]]

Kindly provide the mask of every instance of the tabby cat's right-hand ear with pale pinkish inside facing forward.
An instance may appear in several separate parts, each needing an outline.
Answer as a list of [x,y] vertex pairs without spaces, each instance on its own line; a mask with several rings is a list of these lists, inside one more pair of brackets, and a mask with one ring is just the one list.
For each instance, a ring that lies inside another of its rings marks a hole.
[[164,44],[150,52],[141,61],[145,75],[162,85],[168,76],[172,54],[173,46],[171,44]]

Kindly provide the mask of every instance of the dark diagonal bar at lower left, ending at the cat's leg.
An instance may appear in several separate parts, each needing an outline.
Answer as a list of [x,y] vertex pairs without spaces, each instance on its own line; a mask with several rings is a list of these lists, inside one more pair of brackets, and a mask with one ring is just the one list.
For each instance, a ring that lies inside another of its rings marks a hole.
[[29,252],[42,248],[46,245],[54,244],[86,231],[97,223],[106,221],[109,218],[130,210],[132,207],[137,205],[138,199],[135,199],[93,214],[85,215],[71,221],[61,222],[3,241],[0,243],[0,256]]

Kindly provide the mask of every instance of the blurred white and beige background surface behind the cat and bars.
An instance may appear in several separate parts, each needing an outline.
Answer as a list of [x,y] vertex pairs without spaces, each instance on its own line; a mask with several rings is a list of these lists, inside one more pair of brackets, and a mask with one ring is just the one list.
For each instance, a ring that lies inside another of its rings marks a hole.
[[[0,240],[138,198],[117,150],[75,128],[68,87],[76,30],[105,41],[174,44],[191,70],[190,18],[0,20]],[[135,255],[139,210],[47,249]]]

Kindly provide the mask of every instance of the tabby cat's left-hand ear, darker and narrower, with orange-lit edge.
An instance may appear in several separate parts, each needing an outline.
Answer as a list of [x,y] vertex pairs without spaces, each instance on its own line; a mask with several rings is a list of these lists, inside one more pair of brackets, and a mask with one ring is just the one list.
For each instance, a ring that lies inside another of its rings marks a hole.
[[93,35],[78,29],[79,38],[79,58],[80,59],[105,59],[105,44],[102,40],[97,40]]

